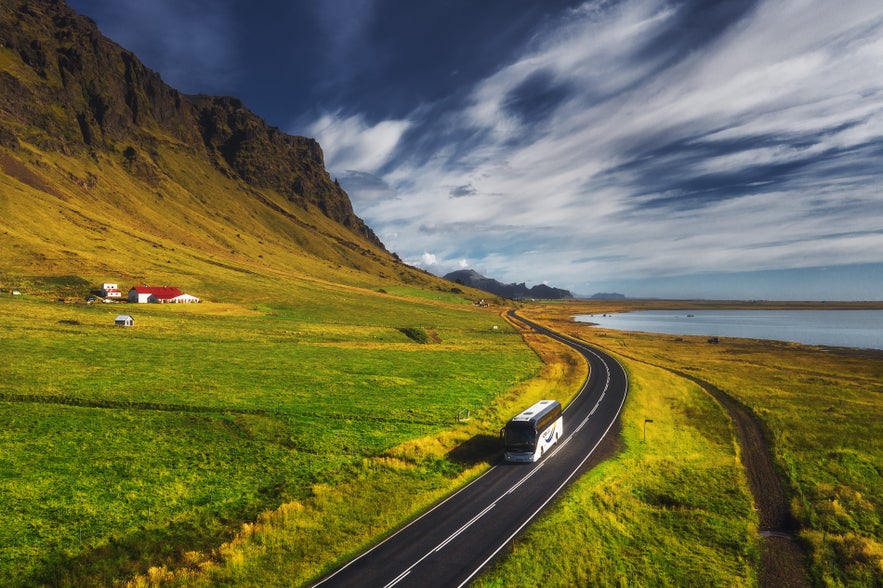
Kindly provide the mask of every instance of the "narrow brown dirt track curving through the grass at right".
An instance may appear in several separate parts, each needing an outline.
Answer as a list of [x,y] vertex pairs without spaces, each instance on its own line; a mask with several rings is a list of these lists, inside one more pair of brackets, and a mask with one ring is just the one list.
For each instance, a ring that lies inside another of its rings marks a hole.
[[809,586],[803,552],[793,537],[799,524],[791,513],[760,424],[744,406],[719,388],[689,374],[675,373],[705,389],[727,411],[735,426],[763,537],[760,586]]

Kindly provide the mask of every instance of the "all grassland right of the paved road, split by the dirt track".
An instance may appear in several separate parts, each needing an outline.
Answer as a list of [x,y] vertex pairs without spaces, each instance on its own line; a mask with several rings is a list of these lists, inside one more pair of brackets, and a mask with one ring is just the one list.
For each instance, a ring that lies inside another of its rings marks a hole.
[[477,585],[549,577],[562,586],[623,578],[655,586],[687,577],[703,585],[757,583],[758,521],[728,418],[673,371],[711,383],[761,421],[801,525],[796,541],[812,585],[879,585],[883,354],[745,339],[710,345],[704,337],[604,331],[570,318],[616,310],[623,305],[525,312],[626,366],[632,385],[623,446]]

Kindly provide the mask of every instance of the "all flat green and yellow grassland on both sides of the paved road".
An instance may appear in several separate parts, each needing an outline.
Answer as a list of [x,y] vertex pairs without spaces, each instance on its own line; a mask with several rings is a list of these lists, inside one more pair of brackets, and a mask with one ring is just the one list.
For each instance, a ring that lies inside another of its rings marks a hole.
[[[517,332],[500,308],[407,287],[303,288],[284,304],[0,296],[0,583],[307,584],[484,471],[506,418],[566,402],[585,377],[575,354]],[[812,582],[875,585],[880,354],[570,320],[612,310],[522,311],[616,355],[629,398],[610,459],[476,585],[757,584],[732,425],[674,372],[764,424]],[[135,327],[112,326],[121,311]]]

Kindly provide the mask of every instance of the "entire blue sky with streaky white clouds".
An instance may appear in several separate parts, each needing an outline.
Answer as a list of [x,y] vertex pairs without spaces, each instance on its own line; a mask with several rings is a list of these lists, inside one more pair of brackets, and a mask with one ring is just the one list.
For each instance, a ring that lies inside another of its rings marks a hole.
[[576,295],[883,299],[879,0],[68,0],[315,137],[390,251]]

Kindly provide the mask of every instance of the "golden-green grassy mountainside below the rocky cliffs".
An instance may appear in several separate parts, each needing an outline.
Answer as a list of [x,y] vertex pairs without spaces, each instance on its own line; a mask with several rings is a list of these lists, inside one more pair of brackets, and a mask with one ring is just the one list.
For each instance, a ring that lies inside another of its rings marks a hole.
[[35,285],[27,277],[68,275],[93,288],[103,281],[175,283],[203,297],[244,300],[266,298],[268,291],[277,297],[304,278],[360,286],[441,283],[395,265],[315,210],[259,194],[213,168],[188,176],[196,163],[186,152],[168,157],[181,166],[179,178],[155,186],[99,157],[96,164],[5,154],[0,245],[10,254],[0,276],[6,287],[26,290]]

